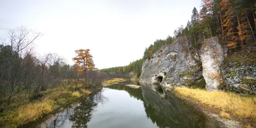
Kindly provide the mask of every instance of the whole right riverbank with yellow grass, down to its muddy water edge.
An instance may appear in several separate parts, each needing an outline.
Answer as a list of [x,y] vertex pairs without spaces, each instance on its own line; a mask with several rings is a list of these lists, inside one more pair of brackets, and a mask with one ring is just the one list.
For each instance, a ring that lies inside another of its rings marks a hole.
[[256,127],[256,96],[228,92],[207,92],[200,89],[174,88],[181,99],[188,100],[207,113],[241,122],[243,127]]

